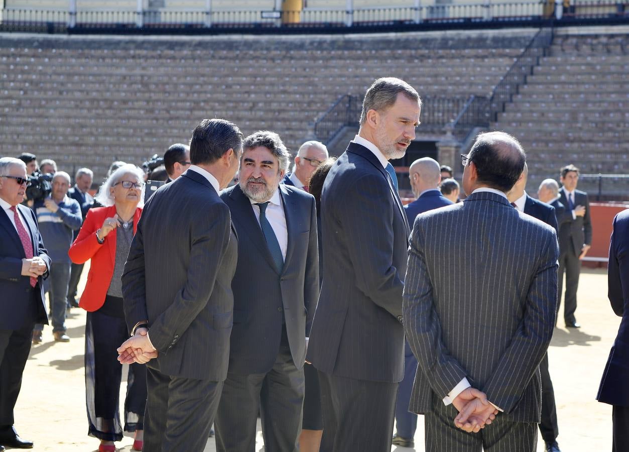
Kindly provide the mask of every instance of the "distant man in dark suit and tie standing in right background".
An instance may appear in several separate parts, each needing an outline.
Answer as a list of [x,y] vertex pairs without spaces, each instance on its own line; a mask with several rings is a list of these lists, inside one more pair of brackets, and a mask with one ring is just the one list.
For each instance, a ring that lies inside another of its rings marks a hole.
[[565,326],[579,328],[581,325],[577,322],[574,312],[577,310],[581,259],[592,246],[592,223],[587,193],[577,190],[579,169],[574,165],[564,166],[561,169],[560,182],[563,187],[559,190],[559,201],[566,206],[572,218],[559,229],[559,303],[565,273]]

